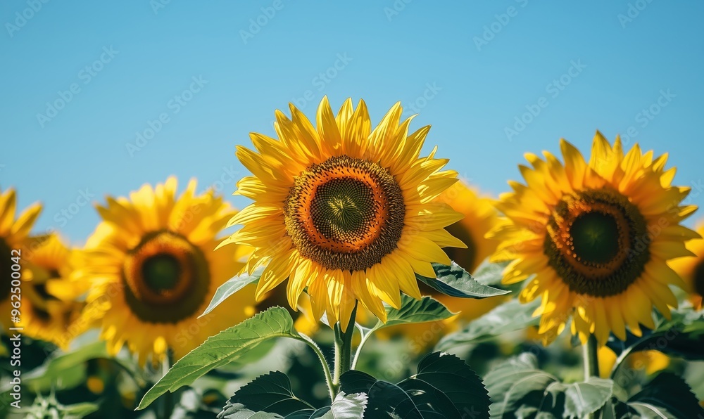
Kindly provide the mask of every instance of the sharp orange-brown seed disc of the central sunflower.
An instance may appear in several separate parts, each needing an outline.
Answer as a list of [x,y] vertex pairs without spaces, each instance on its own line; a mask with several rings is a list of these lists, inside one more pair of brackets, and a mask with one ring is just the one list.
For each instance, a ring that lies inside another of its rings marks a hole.
[[405,216],[389,170],[346,155],[301,172],[284,202],[296,249],[327,269],[361,271],[381,262],[396,249]]

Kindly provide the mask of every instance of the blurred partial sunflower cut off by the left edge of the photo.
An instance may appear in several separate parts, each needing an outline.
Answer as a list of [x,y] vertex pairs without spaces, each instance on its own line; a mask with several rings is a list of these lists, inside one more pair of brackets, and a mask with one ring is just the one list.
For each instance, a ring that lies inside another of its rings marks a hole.
[[[19,274],[13,273],[15,272],[13,269],[15,263],[11,257],[18,257],[20,266],[25,265],[22,252],[24,251],[26,254],[27,247],[32,242],[32,239],[27,235],[30,233],[34,221],[37,220],[39,212],[42,211],[42,206],[35,203],[15,219],[16,205],[14,189],[10,188],[4,193],[0,191],[0,254],[2,254],[0,257],[0,313],[3,313],[3,316],[0,316],[2,319],[0,327],[2,328],[10,327],[7,321],[13,308],[11,306],[11,291],[12,288],[15,288],[12,285],[12,280],[17,279],[18,275],[22,281],[25,279],[25,269],[20,269]],[[18,250],[18,252],[13,252],[13,250]]]

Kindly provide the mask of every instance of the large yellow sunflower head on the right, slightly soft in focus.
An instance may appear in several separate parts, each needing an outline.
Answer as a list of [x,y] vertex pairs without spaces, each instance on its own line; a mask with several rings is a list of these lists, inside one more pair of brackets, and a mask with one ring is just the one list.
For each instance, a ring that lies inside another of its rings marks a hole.
[[582,342],[593,334],[604,344],[610,332],[625,340],[626,325],[641,335],[641,324],[654,327],[653,305],[665,316],[677,306],[668,285],[685,286],[666,262],[691,254],[684,242],[699,237],[679,224],[696,209],[680,205],[689,188],[671,186],[667,155],[636,144],[624,156],[618,137],[612,147],[597,131],[589,163],[567,141],[560,148],[564,165],[526,155],[526,185],[510,182],[497,205],[507,222],[489,233],[503,240],[492,258],[513,259],[504,283],[535,274],[520,299],[542,297],[534,316],[545,344],[570,315]]

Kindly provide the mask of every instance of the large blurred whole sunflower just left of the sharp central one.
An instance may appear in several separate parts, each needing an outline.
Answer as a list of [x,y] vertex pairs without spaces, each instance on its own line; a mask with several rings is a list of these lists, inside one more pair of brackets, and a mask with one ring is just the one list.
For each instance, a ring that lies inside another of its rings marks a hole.
[[84,323],[99,321],[108,352],[123,344],[144,365],[180,359],[210,335],[254,314],[247,287],[207,316],[215,290],[244,266],[246,247],[213,252],[215,236],[235,212],[212,191],[196,195],[196,181],[176,197],[170,177],[127,198],[98,206],[103,221],[80,255],[75,281],[90,286]]

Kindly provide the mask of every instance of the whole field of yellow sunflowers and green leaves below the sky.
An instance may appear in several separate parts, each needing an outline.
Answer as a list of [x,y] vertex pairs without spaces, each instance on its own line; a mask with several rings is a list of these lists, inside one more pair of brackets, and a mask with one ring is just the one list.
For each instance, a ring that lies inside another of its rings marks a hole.
[[701,417],[704,228],[667,155],[561,140],[492,200],[402,112],[277,110],[237,146],[250,205],[170,177],[82,248],[3,191],[5,415]]

